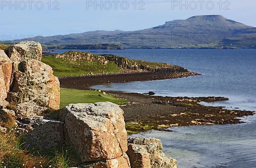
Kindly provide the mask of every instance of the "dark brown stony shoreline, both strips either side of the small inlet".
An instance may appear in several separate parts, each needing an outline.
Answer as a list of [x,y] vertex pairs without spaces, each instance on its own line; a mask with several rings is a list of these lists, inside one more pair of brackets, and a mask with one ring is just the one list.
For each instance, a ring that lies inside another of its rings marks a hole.
[[[131,81],[152,81],[169,78],[182,78],[193,72],[154,73],[136,72],[108,75],[86,75],[59,78],[61,87],[79,90],[91,90],[91,86],[109,83],[127,83]],[[239,124],[238,117],[252,116],[254,111],[227,110],[223,107],[209,107],[198,104],[201,101],[226,101],[224,97],[163,97],[149,96],[140,93],[125,93],[120,91],[105,91],[120,99],[129,101],[121,105],[128,135],[149,130],[167,130],[170,127],[192,125],[224,125]]]

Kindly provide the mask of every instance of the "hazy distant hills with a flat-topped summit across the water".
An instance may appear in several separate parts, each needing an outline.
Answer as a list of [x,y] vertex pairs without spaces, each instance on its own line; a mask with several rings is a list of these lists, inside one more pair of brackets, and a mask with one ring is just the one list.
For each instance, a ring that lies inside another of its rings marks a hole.
[[45,47],[117,43],[124,48],[256,48],[256,28],[221,15],[203,15],[137,31],[92,31],[44,37],[38,42]]

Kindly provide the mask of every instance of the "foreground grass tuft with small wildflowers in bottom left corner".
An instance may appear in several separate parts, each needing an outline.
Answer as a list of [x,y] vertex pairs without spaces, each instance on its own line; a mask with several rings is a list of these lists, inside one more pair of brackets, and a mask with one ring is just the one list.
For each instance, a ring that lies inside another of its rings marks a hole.
[[73,149],[67,144],[40,155],[26,148],[26,143],[15,131],[0,133],[0,168],[69,168],[71,160],[76,161],[74,157]]

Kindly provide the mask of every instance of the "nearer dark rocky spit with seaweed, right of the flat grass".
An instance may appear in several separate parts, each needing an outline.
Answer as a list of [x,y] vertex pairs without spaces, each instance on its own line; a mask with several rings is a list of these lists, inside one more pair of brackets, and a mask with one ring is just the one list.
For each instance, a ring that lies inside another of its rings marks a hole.
[[[254,115],[253,111],[227,110],[212,107],[214,101],[226,101],[224,97],[162,97],[139,93],[109,92],[130,103],[121,108],[128,134],[148,130],[169,131],[169,127],[191,125],[239,124],[238,117]],[[198,104],[205,102],[204,104]],[[205,106],[207,105],[208,106]],[[150,111],[151,113],[148,113]]]

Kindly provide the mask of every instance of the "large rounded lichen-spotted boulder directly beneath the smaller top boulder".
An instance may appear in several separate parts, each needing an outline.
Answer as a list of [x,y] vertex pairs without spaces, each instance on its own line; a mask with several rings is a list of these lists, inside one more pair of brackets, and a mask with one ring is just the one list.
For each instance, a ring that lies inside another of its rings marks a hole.
[[41,107],[59,109],[60,83],[49,65],[32,59],[21,61],[15,69],[7,101],[34,102]]

